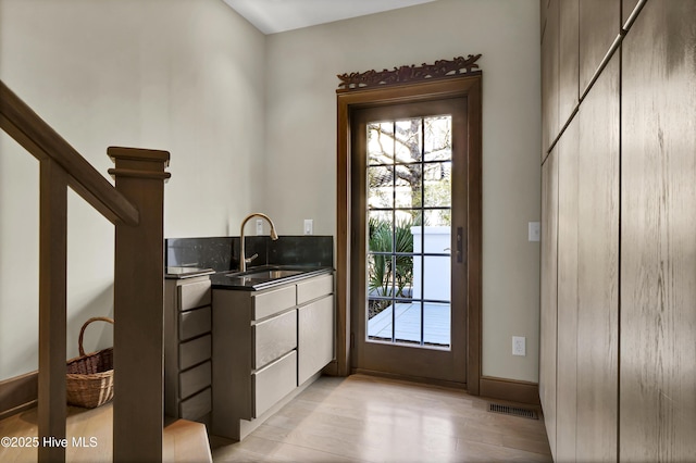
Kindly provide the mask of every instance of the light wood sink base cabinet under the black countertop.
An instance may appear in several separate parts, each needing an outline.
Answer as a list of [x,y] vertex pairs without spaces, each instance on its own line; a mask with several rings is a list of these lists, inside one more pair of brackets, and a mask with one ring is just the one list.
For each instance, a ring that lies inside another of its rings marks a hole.
[[212,434],[240,440],[334,358],[334,278],[213,290]]

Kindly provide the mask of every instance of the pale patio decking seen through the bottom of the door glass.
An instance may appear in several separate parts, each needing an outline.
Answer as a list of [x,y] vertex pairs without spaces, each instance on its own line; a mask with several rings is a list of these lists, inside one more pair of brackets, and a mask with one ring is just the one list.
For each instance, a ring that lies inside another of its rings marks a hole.
[[[395,339],[405,342],[421,341],[421,304],[397,302],[394,320],[396,322]],[[391,339],[391,313],[395,305],[389,305],[368,321],[368,337]],[[424,325],[423,342],[430,346],[449,346],[450,314],[449,304],[423,303]]]

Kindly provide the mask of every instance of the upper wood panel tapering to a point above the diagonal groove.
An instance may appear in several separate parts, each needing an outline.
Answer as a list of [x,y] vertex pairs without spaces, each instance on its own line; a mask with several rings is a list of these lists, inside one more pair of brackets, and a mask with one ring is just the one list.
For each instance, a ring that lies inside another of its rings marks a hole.
[[580,2],[580,91],[583,93],[621,30],[621,0]]

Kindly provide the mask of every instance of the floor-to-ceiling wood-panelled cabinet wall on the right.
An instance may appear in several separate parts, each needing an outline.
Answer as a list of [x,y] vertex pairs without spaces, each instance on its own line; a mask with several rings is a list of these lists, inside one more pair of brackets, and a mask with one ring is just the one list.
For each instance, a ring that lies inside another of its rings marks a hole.
[[563,132],[542,166],[539,391],[554,459],[692,461],[696,3],[559,1]]

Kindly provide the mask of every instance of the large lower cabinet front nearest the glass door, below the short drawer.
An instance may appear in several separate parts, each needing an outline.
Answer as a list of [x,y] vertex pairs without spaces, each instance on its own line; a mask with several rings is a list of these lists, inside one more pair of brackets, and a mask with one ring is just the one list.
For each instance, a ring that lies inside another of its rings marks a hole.
[[297,317],[297,384],[301,385],[334,359],[334,296],[299,308]]

